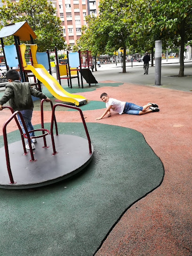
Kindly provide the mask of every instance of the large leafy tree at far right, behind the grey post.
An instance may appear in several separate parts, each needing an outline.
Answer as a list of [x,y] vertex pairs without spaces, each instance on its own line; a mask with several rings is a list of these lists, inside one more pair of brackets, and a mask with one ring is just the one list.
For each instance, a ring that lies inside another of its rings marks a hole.
[[[135,0],[128,11],[134,11],[132,37],[151,35],[170,47],[180,46],[180,70],[184,76],[184,44],[192,39],[191,0]],[[151,38],[152,38],[151,37]],[[169,45],[168,45],[168,43]],[[138,40],[138,43],[140,41]]]

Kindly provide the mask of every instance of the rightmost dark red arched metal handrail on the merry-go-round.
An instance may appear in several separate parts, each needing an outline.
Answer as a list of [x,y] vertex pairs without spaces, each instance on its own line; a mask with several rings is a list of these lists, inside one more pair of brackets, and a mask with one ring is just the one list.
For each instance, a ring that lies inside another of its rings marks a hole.
[[86,125],[86,122],[85,122],[82,110],[80,108],[78,108],[78,107],[74,107],[74,106],[70,106],[70,105],[62,104],[62,103],[55,104],[53,106],[53,109],[52,109],[50,133],[51,133],[51,140],[52,140],[52,145],[53,145],[53,154],[54,155],[56,154],[55,141],[54,141],[54,136],[53,136],[53,122],[54,122],[54,118],[56,118],[55,117],[55,109],[56,109],[57,106],[62,106],[62,107],[66,107],[66,108],[76,109],[76,110],[78,110],[80,112],[80,116],[81,116],[81,119],[82,119],[82,122],[83,122],[83,125],[84,125],[84,128],[85,128],[85,132],[86,132],[86,135],[88,137],[89,154],[91,154],[92,153],[92,150],[91,150],[91,140],[90,140],[90,137],[89,137],[89,134],[88,134],[88,128],[87,128],[87,125]]

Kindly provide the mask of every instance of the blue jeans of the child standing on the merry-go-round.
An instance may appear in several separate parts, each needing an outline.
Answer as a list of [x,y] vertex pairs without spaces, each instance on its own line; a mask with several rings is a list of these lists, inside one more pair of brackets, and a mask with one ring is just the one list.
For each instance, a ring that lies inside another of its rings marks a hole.
[[[21,110],[20,112],[23,115],[24,122],[26,124],[27,130],[28,131],[34,130],[34,128],[32,126],[32,110],[31,109],[26,109],[26,110]],[[22,121],[21,121],[20,116],[18,114],[17,114],[17,119],[18,119],[18,121],[19,121],[19,123],[21,125],[23,133],[25,133]],[[30,132],[29,136],[35,136],[35,133],[34,132]],[[28,140],[27,140],[27,142],[28,142]],[[32,139],[31,139],[31,143],[32,143]]]

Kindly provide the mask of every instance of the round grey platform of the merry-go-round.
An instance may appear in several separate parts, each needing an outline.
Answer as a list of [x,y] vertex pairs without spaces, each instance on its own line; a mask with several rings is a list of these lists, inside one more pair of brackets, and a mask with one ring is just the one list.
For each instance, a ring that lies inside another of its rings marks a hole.
[[72,135],[54,136],[56,155],[52,155],[51,136],[46,136],[49,148],[43,147],[43,138],[35,143],[34,159],[31,154],[23,155],[22,141],[8,145],[10,166],[14,182],[9,184],[9,176],[5,158],[5,149],[0,148],[0,188],[25,189],[53,184],[75,175],[85,168],[93,156],[89,154],[88,140]]

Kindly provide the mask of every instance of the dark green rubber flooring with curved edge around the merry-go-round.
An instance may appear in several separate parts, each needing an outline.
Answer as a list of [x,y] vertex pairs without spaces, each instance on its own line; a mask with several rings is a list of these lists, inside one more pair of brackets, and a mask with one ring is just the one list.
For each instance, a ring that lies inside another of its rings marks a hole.
[[[0,255],[92,256],[123,212],[160,185],[163,165],[141,133],[87,126],[94,157],[78,176],[37,189],[0,189]],[[58,131],[86,137],[82,123],[58,123]],[[16,140],[18,131],[8,134],[9,143]]]

